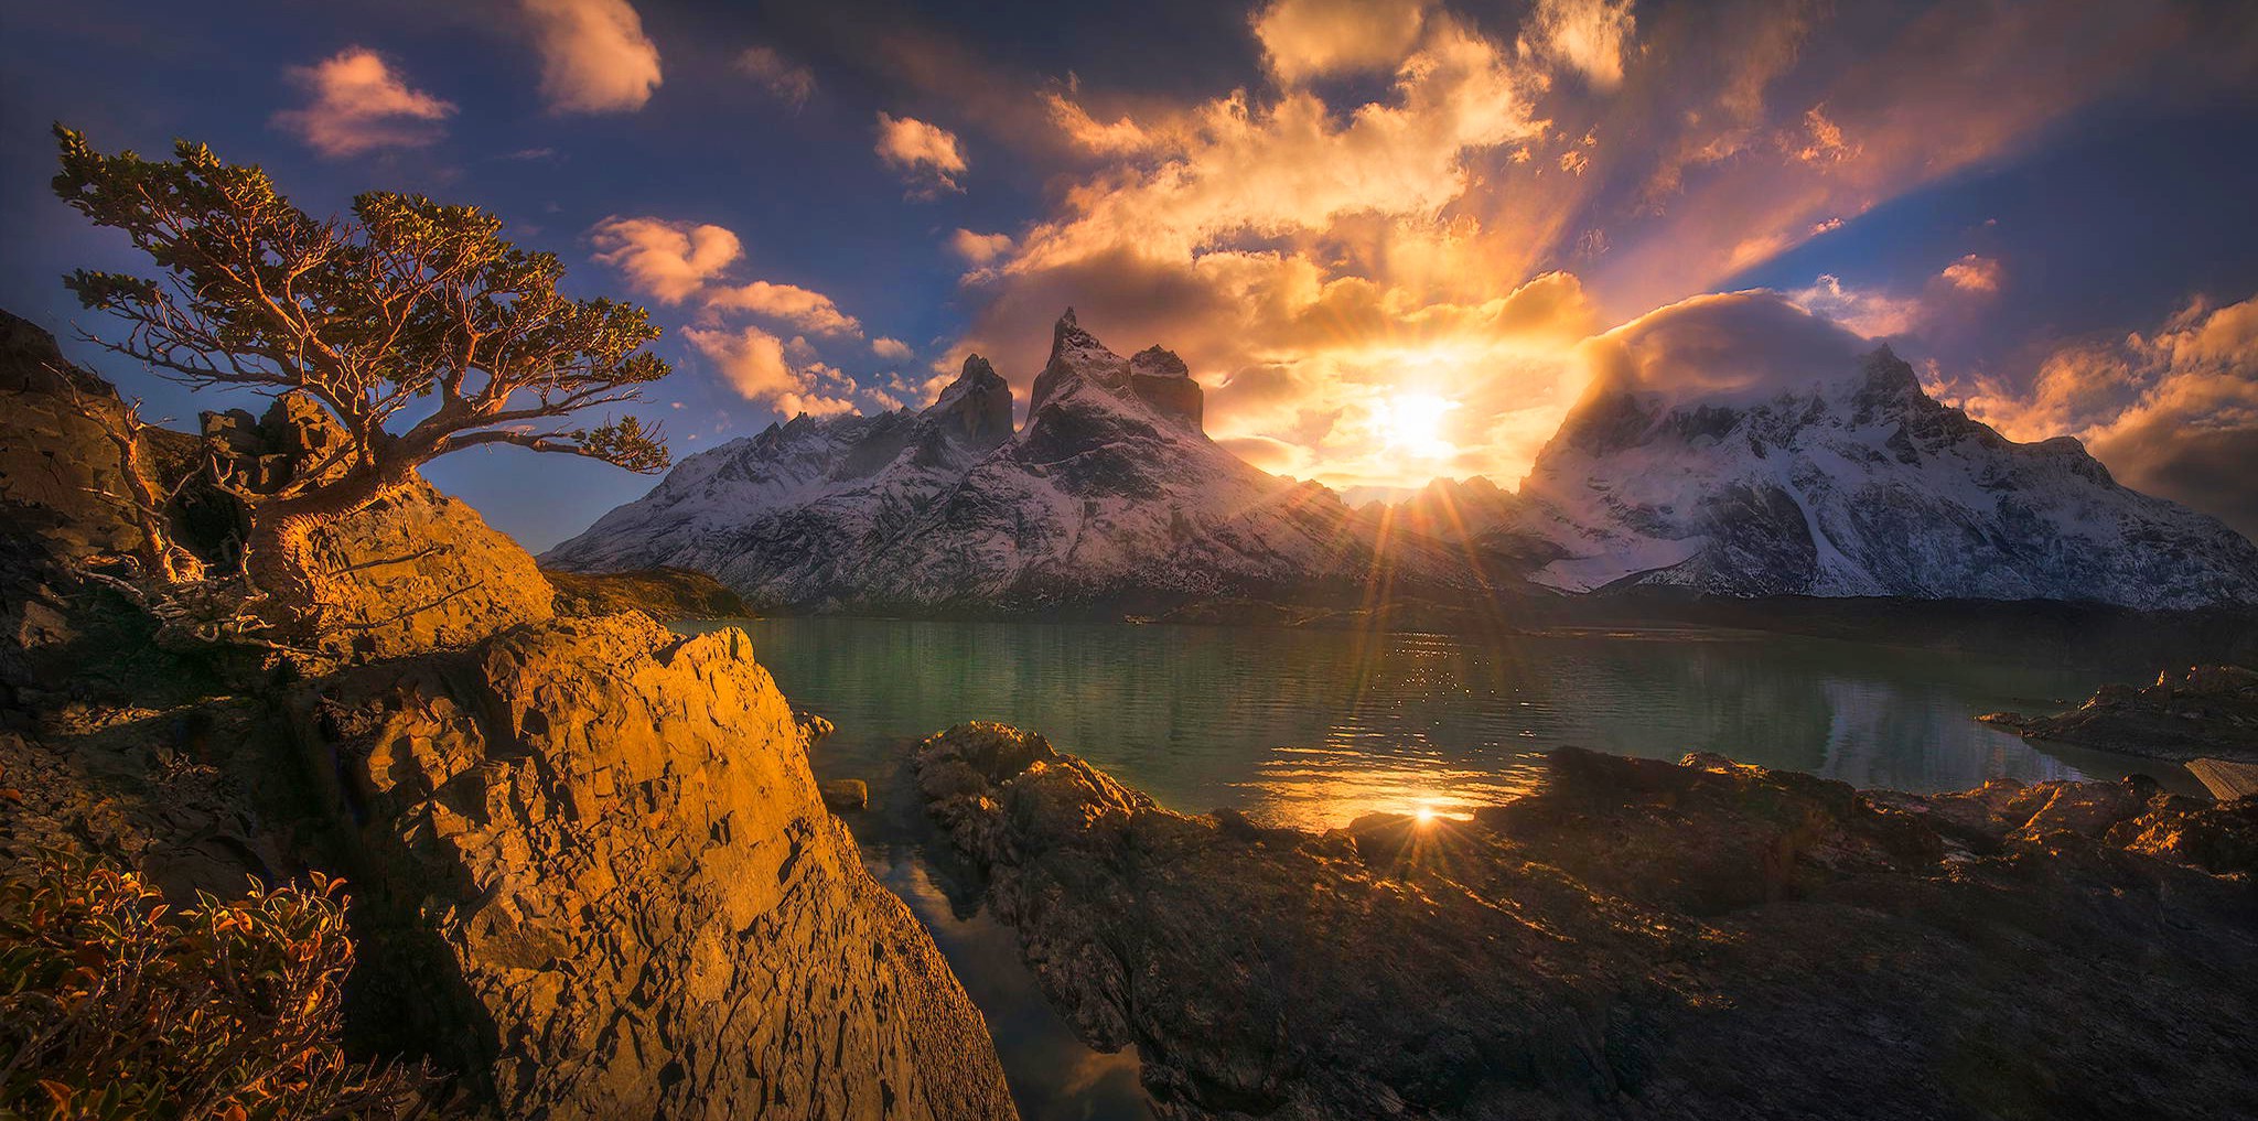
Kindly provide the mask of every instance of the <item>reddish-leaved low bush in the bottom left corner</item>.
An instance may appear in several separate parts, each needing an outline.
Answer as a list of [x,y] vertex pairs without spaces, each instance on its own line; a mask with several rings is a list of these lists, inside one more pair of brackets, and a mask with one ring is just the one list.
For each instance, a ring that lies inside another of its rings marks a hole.
[[199,893],[43,853],[0,877],[0,1119],[404,1119],[427,1069],[339,1049],[343,882]]

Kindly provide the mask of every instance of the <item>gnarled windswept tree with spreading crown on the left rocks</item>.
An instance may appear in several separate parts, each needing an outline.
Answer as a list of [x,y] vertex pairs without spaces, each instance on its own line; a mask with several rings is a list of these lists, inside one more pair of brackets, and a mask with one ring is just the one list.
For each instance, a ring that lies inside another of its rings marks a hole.
[[248,510],[244,573],[300,618],[318,620],[323,602],[314,530],[409,487],[438,456],[515,444],[666,469],[662,433],[632,415],[567,422],[637,401],[671,372],[644,350],[659,336],[650,314],[560,295],[555,255],[504,241],[495,214],[368,192],[350,221],[314,219],[266,171],[203,144],[145,160],[102,156],[61,124],[54,135],[54,192],[163,271],[70,273],[79,302],[131,325],[88,341],[190,388],[309,395],[343,429],[278,487],[219,480]]

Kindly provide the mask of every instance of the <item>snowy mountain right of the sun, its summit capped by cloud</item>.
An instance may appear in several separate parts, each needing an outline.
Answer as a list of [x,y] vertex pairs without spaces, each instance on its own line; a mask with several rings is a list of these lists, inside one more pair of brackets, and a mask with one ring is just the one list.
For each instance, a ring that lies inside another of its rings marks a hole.
[[[1716,352],[1727,314],[1793,359]],[[2012,442],[1815,323],[1718,304],[1614,338],[1484,546],[1563,591],[2258,602],[2258,548],[2217,519],[2118,485],[2077,440]]]

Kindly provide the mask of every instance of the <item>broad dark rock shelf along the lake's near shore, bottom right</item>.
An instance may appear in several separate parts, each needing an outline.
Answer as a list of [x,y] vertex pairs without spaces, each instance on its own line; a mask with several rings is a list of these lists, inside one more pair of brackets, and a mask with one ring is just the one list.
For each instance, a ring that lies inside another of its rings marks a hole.
[[2235,1116],[2258,803],[1583,751],[1474,821],[1185,817],[1041,735],[919,785],[1165,1116]]

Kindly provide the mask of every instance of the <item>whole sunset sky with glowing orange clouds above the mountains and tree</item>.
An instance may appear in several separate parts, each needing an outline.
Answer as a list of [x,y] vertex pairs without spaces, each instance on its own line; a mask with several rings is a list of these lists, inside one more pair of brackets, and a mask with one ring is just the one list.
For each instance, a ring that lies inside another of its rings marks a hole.
[[[1763,289],[2016,440],[2258,535],[2258,5],[1818,0],[77,0],[0,36],[0,307],[75,341],[147,271],[61,205],[52,122],[266,167],[314,214],[474,203],[648,304],[675,456],[1025,408],[1068,304],[1176,350],[1208,433],[1353,494],[1515,485],[1594,338]],[[1763,338],[1743,341],[1763,345]],[[1786,345],[1786,343],[1782,343]],[[528,548],[650,487],[427,469]]]

